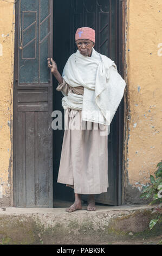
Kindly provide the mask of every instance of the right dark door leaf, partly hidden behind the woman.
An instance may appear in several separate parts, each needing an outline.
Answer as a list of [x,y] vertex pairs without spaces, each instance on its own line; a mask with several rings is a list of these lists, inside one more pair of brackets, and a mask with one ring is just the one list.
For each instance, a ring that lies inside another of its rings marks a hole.
[[[115,61],[122,76],[122,0],[71,0],[71,53],[76,51],[75,32],[92,27],[96,33],[95,50]],[[122,144],[124,99],[111,123],[108,136],[108,180],[106,193],[96,195],[96,202],[120,205],[122,195]],[[86,198],[83,196],[83,198]]]

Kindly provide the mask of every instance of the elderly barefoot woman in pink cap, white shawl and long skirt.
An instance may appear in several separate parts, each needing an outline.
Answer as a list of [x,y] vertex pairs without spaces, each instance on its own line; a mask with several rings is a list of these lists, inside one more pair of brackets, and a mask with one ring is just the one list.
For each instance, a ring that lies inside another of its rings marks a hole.
[[[95,194],[107,192],[106,131],[126,85],[113,60],[94,50],[94,29],[77,29],[75,42],[78,50],[69,57],[62,76],[54,60],[48,59],[48,67],[59,82],[56,90],[64,95],[62,106],[68,124],[57,179],[74,188],[75,202],[67,212],[82,209],[81,194],[88,194],[87,210],[94,211]],[[69,129],[74,124],[77,129]]]

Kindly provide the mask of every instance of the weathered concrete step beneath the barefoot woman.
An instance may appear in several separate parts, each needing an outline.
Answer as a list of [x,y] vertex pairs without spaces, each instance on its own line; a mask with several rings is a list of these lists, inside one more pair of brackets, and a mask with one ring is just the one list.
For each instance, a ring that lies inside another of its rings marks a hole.
[[152,208],[152,205],[97,205],[98,210],[88,212],[83,205],[82,210],[72,213],[65,208],[0,209],[0,242],[98,245],[159,237],[162,235],[160,224],[148,229],[155,217]]

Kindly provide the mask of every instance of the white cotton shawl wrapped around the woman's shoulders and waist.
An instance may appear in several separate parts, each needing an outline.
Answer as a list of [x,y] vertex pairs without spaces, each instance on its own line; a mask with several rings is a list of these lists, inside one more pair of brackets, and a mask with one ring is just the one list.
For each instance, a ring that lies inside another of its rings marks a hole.
[[63,108],[82,110],[82,120],[109,126],[126,86],[114,61],[94,48],[91,57],[77,50],[69,57],[62,77],[72,87],[85,87],[83,95],[62,92]]

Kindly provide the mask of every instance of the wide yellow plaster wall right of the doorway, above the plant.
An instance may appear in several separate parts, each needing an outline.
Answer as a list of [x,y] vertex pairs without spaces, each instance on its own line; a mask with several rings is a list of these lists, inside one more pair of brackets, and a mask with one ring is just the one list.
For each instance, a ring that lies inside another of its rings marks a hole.
[[162,1],[127,0],[125,202],[139,203],[142,186],[162,160]]

